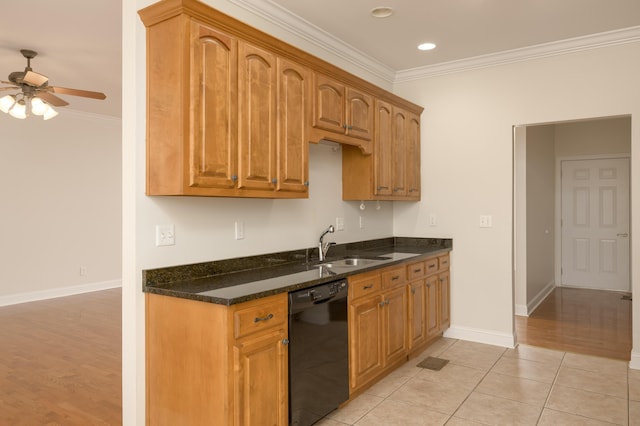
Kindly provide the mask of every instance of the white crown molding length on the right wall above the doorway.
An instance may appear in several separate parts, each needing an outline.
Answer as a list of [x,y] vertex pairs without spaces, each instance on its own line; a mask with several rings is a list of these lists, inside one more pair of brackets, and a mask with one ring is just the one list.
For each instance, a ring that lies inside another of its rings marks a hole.
[[640,42],[640,26],[398,71],[394,83]]

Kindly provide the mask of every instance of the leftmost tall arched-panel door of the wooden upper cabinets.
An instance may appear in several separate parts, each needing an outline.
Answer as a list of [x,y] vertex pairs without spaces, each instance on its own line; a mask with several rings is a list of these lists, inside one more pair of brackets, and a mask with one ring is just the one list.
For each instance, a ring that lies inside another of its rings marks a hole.
[[[237,179],[237,40],[192,24],[189,186],[234,188]],[[163,172],[161,170],[160,172]]]

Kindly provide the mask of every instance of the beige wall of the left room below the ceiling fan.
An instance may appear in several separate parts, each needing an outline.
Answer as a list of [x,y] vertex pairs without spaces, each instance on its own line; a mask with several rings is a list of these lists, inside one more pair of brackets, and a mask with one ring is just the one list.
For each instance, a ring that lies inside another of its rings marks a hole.
[[119,286],[120,119],[65,108],[0,128],[0,306]]

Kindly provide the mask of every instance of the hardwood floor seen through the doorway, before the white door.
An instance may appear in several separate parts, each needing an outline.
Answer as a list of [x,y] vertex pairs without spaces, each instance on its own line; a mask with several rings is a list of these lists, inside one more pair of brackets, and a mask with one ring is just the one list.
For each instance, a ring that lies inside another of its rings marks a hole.
[[629,297],[628,293],[557,287],[529,317],[516,316],[518,343],[629,360]]

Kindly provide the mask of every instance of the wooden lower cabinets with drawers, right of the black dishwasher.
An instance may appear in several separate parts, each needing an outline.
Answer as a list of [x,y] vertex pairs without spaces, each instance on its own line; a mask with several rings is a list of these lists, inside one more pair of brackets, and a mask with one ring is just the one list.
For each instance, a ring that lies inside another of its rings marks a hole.
[[449,327],[449,255],[349,278],[354,397]]

